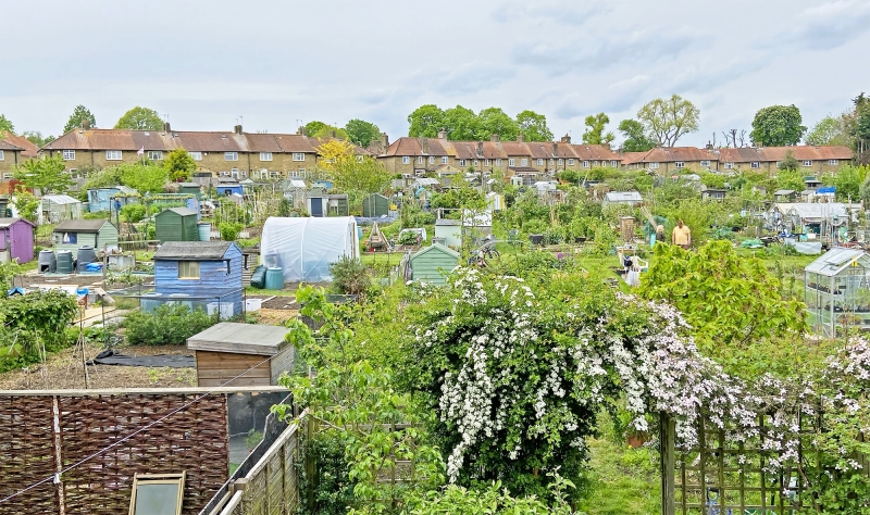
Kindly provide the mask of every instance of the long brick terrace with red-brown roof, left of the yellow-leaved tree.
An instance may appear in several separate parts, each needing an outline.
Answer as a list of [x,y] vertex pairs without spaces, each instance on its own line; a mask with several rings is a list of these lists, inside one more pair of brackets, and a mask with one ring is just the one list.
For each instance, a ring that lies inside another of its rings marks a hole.
[[[166,153],[182,148],[197,162],[197,172],[216,177],[281,178],[306,177],[318,165],[318,148],[325,139],[298,134],[251,134],[241,125],[233,131],[175,131],[170,124],[162,130],[77,128],[41,149],[59,155],[73,176],[87,169],[142,159],[160,162]],[[358,155],[369,152],[356,147]]]

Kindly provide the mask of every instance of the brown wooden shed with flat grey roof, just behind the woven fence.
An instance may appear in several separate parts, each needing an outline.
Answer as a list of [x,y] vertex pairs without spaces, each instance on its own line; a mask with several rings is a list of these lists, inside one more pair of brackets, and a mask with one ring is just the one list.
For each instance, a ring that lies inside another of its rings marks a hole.
[[[222,322],[187,339],[196,351],[199,387],[274,386],[294,365],[296,350],[283,326]],[[266,361],[269,360],[269,361]],[[249,370],[250,369],[250,370]],[[246,372],[249,370],[249,372]]]

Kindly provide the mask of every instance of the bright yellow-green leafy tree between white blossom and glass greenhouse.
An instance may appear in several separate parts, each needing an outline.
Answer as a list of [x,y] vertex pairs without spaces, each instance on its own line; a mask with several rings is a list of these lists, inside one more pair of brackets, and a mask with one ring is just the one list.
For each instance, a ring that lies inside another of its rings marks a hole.
[[738,255],[726,241],[710,241],[697,252],[657,244],[638,292],[680,310],[706,347],[720,355],[733,352],[733,346],[807,328],[804,303],[784,300],[779,280],[761,260]]

